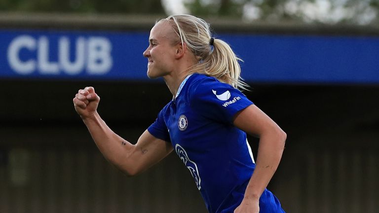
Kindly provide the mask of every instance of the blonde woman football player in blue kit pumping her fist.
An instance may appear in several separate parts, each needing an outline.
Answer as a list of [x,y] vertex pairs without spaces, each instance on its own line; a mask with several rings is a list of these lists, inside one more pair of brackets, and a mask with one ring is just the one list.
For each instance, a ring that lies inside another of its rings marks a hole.
[[[73,100],[103,155],[136,175],[175,150],[209,213],[283,213],[266,186],[286,134],[239,91],[246,84],[229,45],[211,36],[208,23],[190,15],[158,21],[149,43],[147,75],[163,77],[173,99],[135,145],[101,119],[93,87],[79,90]],[[260,138],[256,164],[246,133]]]

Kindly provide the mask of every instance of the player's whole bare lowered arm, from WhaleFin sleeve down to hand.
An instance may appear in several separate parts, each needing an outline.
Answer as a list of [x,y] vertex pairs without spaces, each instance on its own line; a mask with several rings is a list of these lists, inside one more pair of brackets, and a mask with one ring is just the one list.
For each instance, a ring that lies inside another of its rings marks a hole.
[[287,136],[255,105],[237,113],[234,125],[260,138],[256,168],[247,185],[245,197],[234,213],[258,213],[259,198],[279,165]]

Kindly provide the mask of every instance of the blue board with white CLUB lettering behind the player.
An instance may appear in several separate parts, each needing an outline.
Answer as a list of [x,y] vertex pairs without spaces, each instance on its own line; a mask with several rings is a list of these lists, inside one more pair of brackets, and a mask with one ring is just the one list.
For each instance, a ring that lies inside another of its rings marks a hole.
[[[149,32],[0,30],[2,79],[149,80]],[[379,83],[379,37],[221,34],[261,83]]]

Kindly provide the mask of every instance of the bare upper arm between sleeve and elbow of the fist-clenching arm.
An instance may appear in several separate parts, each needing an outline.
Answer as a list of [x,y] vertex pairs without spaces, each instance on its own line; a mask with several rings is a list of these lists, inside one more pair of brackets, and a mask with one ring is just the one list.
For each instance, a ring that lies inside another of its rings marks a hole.
[[172,150],[173,147],[171,143],[155,138],[146,130],[138,139],[138,142],[134,145],[132,152],[128,156],[135,167],[134,174],[143,172],[158,163]]

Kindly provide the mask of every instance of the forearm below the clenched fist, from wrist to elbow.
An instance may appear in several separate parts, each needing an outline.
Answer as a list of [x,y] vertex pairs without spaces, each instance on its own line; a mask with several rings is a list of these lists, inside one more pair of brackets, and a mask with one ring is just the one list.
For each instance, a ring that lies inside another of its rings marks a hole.
[[128,170],[127,156],[134,145],[115,134],[97,112],[82,120],[104,157],[118,169],[129,173],[125,171]]

